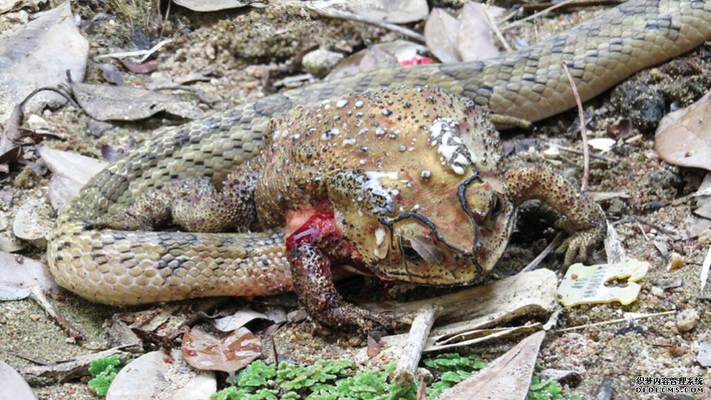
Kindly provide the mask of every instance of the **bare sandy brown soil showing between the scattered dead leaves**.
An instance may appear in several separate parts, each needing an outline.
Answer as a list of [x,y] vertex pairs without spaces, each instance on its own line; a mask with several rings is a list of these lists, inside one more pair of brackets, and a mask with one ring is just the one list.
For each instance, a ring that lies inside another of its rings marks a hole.
[[[173,5],[169,18],[161,23],[155,10],[148,6],[141,9],[137,7],[137,2],[130,3],[132,5],[126,10],[120,11],[115,7],[112,9],[111,4],[116,4],[112,1],[73,1],[73,10],[82,17],[82,33],[90,40],[86,81],[105,82],[97,67],[105,61],[93,60],[94,55],[146,47],[145,43],[152,45],[160,37],[173,38],[173,43],[161,50],[161,61],[154,72],[134,74],[123,70],[124,82],[126,85],[146,86],[166,77],[177,80],[191,72],[203,72],[207,78],[192,83],[191,87],[214,101],[210,105],[200,104],[205,114],[284,90],[275,82],[302,73],[299,66],[301,56],[319,45],[353,53],[367,45],[396,38],[381,28],[361,23],[311,17],[297,4],[277,2],[265,8],[204,14]],[[533,43],[553,31],[589,18],[597,11],[586,9],[554,15],[530,28],[507,35],[513,39],[510,43]],[[165,7],[161,13],[165,16]],[[0,28],[12,26],[12,21],[0,19]],[[633,123],[632,131],[626,135],[631,140],[604,154],[605,160],[592,161],[589,190],[626,194],[601,204],[629,255],[649,261],[651,269],[641,281],[643,288],[638,301],[629,306],[609,304],[564,308],[557,328],[614,320],[626,312],[675,310],[678,313],[631,323],[548,333],[538,364],[542,368],[578,372],[582,381],[570,388],[570,392],[580,394],[584,399],[595,398],[601,387],[614,388],[618,399],[635,398],[634,379],[637,376],[702,376],[707,393],[711,391],[711,372],[696,361],[699,338],[711,327],[710,289],[700,293],[699,281],[700,265],[711,245],[711,232],[706,230],[698,237],[685,240],[672,240],[668,236],[678,234],[685,226],[685,220],[695,208],[695,200],[690,194],[697,190],[705,171],[678,168],[661,161],[654,151],[653,137],[654,127],[664,112],[668,112],[670,107],[690,104],[709,87],[711,45],[705,45],[670,63],[641,72],[585,104],[586,111],[592,117],[589,125],[592,137],[617,139],[620,126],[626,124],[626,120]],[[185,96],[197,103],[194,96]],[[662,104],[661,108],[659,104]],[[87,127],[91,124],[90,118],[71,107],[46,110],[41,117],[52,131],[61,134],[62,139],[53,139],[52,136],[41,141],[31,139],[24,143],[29,150],[33,151],[41,145],[100,159],[110,153],[107,149],[121,153],[156,134],[156,130],[182,122],[167,114],[159,114],[137,123],[112,123],[106,131],[96,134]],[[506,141],[507,148],[513,148],[506,156],[507,166],[547,162],[541,153],[547,142],[581,148],[579,134],[570,129],[576,119],[577,112],[570,111],[542,121],[530,131],[506,131],[502,139]],[[552,165],[579,185],[581,156],[563,152]],[[9,175],[0,176],[0,230],[4,230],[5,234],[11,232],[18,207],[33,198],[48,198],[49,173],[38,178],[29,188],[14,185],[23,168],[14,165]],[[525,210],[518,221],[509,249],[493,271],[492,279],[514,274],[555,237],[552,224],[543,221],[540,212],[534,208]],[[668,245],[666,254],[654,245],[655,240]],[[26,244],[19,254],[42,261],[45,251],[41,246]],[[668,271],[665,256],[673,252],[680,254],[685,262],[679,269]],[[561,264],[560,258],[548,256],[542,267],[557,271],[562,276]],[[359,282],[348,281],[349,290],[355,296],[362,294],[358,290]],[[432,289],[405,292],[402,298],[433,293]],[[57,361],[107,347],[105,328],[117,310],[71,295],[55,303],[82,329],[87,340],[80,343],[69,340],[33,301],[4,302],[0,303],[1,360],[19,369],[28,362],[17,355]],[[680,331],[677,324],[683,318],[680,316],[683,311],[697,313],[697,322],[686,332]],[[478,353],[486,360],[493,360],[516,340],[491,342],[461,351]],[[274,335],[274,342],[282,357],[296,362],[348,355],[357,348],[344,345],[348,342],[353,344],[353,338],[349,335],[319,335],[314,333],[314,324],[309,322],[288,325],[279,330]],[[59,384],[37,382],[36,385],[36,394],[42,399],[95,398],[85,379]]]

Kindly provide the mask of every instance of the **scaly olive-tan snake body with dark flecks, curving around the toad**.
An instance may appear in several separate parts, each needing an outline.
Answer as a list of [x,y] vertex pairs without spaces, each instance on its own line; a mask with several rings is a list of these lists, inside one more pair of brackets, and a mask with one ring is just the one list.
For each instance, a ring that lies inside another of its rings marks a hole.
[[587,100],[709,39],[711,0],[633,0],[501,58],[367,72],[192,121],[132,149],[81,190],[58,218],[48,247],[50,269],[60,285],[112,304],[291,290],[281,233],[118,232],[85,225],[173,180],[221,182],[254,156],[269,119],[297,105],[388,85],[432,85],[496,114],[537,121],[575,104],[562,62]]

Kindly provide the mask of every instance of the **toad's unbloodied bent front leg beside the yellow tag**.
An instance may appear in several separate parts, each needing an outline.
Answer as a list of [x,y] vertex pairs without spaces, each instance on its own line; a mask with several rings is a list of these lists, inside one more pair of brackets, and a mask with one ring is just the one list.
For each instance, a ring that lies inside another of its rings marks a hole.
[[571,234],[559,249],[565,252],[565,266],[576,260],[584,261],[604,238],[606,219],[600,206],[547,166],[508,171],[505,177],[508,193],[516,205],[540,200],[565,217],[565,224],[560,225]]

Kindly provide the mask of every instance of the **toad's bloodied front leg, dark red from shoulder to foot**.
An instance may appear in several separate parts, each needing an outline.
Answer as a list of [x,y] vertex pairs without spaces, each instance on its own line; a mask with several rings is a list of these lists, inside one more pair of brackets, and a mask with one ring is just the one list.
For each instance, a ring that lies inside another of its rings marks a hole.
[[346,260],[356,265],[360,261],[353,245],[341,236],[332,211],[317,212],[287,238],[287,259],[292,265],[296,295],[319,322],[362,332],[392,328],[386,318],[343,301],[333,286],[333,261]]

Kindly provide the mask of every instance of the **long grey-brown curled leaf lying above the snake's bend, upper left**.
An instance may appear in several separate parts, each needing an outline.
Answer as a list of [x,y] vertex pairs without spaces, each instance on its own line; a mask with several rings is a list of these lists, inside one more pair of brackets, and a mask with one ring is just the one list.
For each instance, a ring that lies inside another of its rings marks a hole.
[[161,111],[188,119],[202,116],[190,102],[139,87],[74,83],[72,89],[82,109],[99,121],[136,121]]

